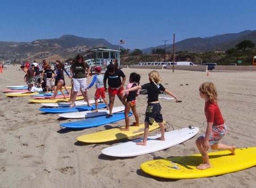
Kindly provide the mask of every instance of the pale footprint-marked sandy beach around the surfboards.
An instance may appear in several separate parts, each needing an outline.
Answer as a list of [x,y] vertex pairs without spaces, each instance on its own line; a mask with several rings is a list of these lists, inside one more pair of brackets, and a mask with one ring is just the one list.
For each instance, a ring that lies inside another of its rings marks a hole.
[[[0,73],[0,89],[6,86],[25,85],[25,73],[20,65],[9,65]],[[123,69],[126,85],[129,75],[136,72],[141,82],[148,82],[152,69]],[[227,134],[222,143],[237,148],[256,147],[256,72],[206,72],[157,70],[162,85],[175,94],[182,102],[159,99],[164,120],[172,126],[168,131],[184,127],[201,127],[206,121],[204,100],[198,88],[202,82],[214,82],[218,90],[218,106],[227,125]],[[88,78],[88,84],[93,77]],[[65,77],[67,86],[70,79]],[[183,84],[183,86],[180,86]],[[186,85],[188,84],[188,85]],[[126,87],[126,86],[125,86]],[[94,86],[89,91],[94,98]],[[168,97],[168,96],[167,96]],[[153,154],[137,157],[118,158],[101,154],[101,150],[143,135],[119,141],[89,144],[80,143],[76,138],[111,127],[125,126],[125,120],[88,129],[69,129],[60,123],[77,121],[60,118],[58,114],[39,111],[42,105],[30,103],[25,97],[0,97],[0,188],[253,188],[256,187],[256,167],[243,171],[188,180],[162,179],[147,175],[140,164],[153,159],[185,156],[199,153],[195,140],[206,130],[184,143]],[[108,95],[106,95],[109,101]],[[122,103],[116,97],[114,106]],[[137,112],[140,123],[144,122],[147,106],[146,95],[137,98]],[[134,122],[134,116],[130,117]],[[149,135],[159,134],[159,129]],[[210,149],[210,152],[213,150]],[[239,164],[238,164],[239,165]]]

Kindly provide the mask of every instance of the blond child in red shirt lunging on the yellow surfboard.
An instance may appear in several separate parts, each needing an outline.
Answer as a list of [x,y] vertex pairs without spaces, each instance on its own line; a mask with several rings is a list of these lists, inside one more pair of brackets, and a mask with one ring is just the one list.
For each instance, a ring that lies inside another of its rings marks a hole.
[[219,143],[227,132],[226,124],[217,105],[218,94],[216,87],[212,82],[204,82],[199,87],[200,97],[205,99],[205,114],[207,119],[206,132],[196,140],[197,148],[200,151],[204,163],[197,166],[199,170],[205,170],[211,167],[208,156],[208,150],[228,150],[235,155],[235,146],[227,146]]

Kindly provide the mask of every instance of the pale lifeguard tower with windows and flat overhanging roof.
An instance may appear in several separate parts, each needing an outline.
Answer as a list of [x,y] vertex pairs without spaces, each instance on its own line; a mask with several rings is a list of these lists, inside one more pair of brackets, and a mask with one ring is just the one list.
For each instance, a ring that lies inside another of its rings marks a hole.
[[120,65],[118,58],[119,50],[98,48],[91,49],[91,51],[96,53],[96,65],[109,65],[113,62],[114,58],[118,60],[118,65]]

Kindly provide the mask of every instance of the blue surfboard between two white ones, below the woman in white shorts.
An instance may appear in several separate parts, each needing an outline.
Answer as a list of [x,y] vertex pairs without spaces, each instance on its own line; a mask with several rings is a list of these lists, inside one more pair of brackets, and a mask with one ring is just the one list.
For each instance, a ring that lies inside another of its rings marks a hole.
[[[106,108],[105,104],[99,104],[98,108]],[[95,110],[96,106],[74,106],[70,107],[62,107],[62,108],[40,108],[40,111],[48,112],[48,113],[67,113],[67,112],[79,112],[79,111],[86,111],[86,110]]]

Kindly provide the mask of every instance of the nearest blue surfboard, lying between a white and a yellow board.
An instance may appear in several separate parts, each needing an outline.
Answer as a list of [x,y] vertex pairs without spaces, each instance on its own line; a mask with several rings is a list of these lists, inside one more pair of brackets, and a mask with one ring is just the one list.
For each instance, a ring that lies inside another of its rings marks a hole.
[[[131,116],[131,115],[132,115],[132,112],[128,114],[128,116]],[[106,116],[100,116],[100,117],[84,119],[76,122],[61,123],[60,126],[68,127],[68,128],[76,128],[76,129],[90,128],[90,127],[98,127],[101,125],[105,125],[107,123],[114,123],[122,119],[125,119],[124,112],[113,114],[111,118],[106,118]]]

